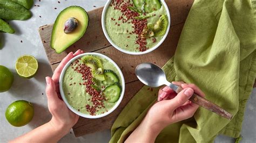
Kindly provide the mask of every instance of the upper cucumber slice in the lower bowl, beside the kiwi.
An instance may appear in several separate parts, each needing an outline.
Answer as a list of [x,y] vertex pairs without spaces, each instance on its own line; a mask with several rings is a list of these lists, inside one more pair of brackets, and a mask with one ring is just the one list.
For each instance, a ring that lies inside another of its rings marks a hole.
[[104,76],[105,76],[106,80],[103,81],[103,84],[105,84],[106,86],[109,86],[113,83],[119,82],[119,78],[118,78],[117,74],[114,73],[113,70],[110,70],[110,69],[104,70]]

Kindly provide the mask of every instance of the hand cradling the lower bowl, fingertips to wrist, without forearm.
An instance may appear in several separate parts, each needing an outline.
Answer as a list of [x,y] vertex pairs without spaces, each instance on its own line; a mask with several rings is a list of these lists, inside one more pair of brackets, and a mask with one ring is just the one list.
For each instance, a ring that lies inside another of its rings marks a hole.
[[83,51],[80,49],[75,54],[70,52],[55,69],[52,78],[45,78],[47,84],[46,95],[48,99],[48,108],[52,114],[50,124],[52,127],[65,133],[68,133],[71,127],[77,123],[79,116],[70,111],[62,99],[60,99],[59,76],[66,63],[74,56],[82,53]]

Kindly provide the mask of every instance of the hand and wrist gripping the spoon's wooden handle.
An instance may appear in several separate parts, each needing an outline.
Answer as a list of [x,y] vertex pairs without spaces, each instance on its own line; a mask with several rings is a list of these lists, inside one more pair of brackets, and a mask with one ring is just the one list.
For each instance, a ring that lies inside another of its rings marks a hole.
[[194,115],[198,105],[188,101],[188,99],[194,92],[204,97],[204,92],[194,84],[172,83],[181,86],[183,90],[176,94],[169,87],[161,88],[158,92],[158,102],[150,108],[142,123],[132,132],[126,142],[154,142],[160,131],[167,125]]

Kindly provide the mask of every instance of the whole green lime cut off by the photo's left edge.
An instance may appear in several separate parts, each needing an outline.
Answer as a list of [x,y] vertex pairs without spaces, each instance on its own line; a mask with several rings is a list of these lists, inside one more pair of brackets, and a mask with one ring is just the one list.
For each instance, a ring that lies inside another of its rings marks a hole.
[[8,68],[0,65],[0,92],[9,90],[12,82],[14,82],[14,75]]

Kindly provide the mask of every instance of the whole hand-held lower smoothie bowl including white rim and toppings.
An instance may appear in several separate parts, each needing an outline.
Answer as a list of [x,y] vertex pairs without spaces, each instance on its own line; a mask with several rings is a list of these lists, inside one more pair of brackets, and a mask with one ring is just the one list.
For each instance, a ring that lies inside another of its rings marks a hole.
[[124,96],[122,71],[99,53],[75,56],[63,68],[59,90],[68,108],[84,118],[101,118],[113,112]]

